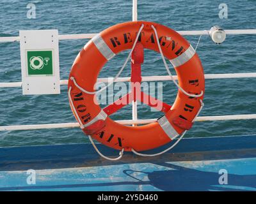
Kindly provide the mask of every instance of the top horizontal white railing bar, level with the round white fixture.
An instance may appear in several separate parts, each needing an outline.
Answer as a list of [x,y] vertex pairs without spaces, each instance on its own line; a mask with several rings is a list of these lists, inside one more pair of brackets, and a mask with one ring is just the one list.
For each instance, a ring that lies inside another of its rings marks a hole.
[[[241,30],[225,30],[226,34],[256,34],[256,29],[241,29]],[[209,31],[177,31],[182,36],[196,36],[196,35],[209,35]],[[85,34],[60,34],[59,40],[75,40],[75,39],[90,39],[98,33],[85,33]],[[0,37],[0,42],[14,42],[19,41],[19,36],[14,37]]]

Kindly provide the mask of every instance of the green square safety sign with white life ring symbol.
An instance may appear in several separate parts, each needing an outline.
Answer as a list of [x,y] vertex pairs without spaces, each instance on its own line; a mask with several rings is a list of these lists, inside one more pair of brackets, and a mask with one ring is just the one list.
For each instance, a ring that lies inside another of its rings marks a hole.
[[52,75],[52,50],[27,51],[28,75]]

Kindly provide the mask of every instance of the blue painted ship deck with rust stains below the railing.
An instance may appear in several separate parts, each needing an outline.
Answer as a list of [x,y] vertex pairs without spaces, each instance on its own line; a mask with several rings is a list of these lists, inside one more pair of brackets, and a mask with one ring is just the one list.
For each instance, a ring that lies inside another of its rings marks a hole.
[[[28,169],[36,170],[36,184],[27,184]],[[218,183],[220,169],[228,185]],[[90,144],[0,148],[0,190],[255,191],[256,136],[184,139],[163,156],[126,153],[118,162],[100,158]]]

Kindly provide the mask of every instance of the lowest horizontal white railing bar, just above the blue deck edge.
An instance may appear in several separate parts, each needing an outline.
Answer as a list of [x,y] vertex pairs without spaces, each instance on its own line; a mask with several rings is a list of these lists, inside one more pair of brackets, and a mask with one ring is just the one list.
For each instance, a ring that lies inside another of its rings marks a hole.
[[[247,115],[217,115],[217,116],[202,116],[197,117],[195,121],[217,121],[217,120],[250,120],[256,119],[256,114]],[[116,122],[124,125],[132,124],[148,124],[156,122],[157,119],[142,119],[142,120],[116,120]],[[77,128],[79,124],[77,122],[68,123],[55,123],[55,124],[33,124],[33,125],[21,125],[21,126],[0,126],[0,131],[14,131],[14,130],[30,130],[30,129],[56,129],[56,128]]]

